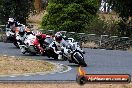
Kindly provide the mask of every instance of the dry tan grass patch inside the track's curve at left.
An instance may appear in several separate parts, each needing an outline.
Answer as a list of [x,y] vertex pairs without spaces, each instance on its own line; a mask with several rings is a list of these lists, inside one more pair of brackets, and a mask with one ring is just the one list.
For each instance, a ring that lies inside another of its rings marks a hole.
[[47,72],[55,68],[55,65],[44,60],[0,55],[0,75]]

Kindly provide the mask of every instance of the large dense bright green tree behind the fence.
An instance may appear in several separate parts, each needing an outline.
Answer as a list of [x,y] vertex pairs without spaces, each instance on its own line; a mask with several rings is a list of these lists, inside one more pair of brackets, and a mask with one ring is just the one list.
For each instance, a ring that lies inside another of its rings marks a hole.
[[41,26],[46,30],[84,32],[98,11],[96,0],[49,0]]

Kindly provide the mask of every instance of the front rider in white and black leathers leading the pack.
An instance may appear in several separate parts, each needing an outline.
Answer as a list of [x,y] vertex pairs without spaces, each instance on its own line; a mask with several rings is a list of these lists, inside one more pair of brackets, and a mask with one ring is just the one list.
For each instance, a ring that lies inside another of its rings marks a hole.
[[61,32],[55,34],[54,40],[49,47],[51,47],[54,52],[58,55],[58,60],[63,60],[62,55],[64,53],[63,47],[68,46],[68,43],[64,40]]

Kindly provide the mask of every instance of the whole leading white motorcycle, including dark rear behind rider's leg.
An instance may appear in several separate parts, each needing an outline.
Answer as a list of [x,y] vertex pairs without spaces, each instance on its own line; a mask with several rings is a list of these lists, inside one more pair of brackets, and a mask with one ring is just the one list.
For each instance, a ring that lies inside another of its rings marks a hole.
[[[63,60],[68,60],[69,63],[75,63],[79,66],[86,67],[87,64],[85,63],[83,56],[85,52],[80,48],[78,42],[75,42],[73,38],[68,38],[66,42],[66,46],[61,46]],[[51,46],[47,50],[47,53],[49,53],[49,57],[52,57],[54,59],[57,59],[59,55],[58,53],[54,52],[54,49]]]

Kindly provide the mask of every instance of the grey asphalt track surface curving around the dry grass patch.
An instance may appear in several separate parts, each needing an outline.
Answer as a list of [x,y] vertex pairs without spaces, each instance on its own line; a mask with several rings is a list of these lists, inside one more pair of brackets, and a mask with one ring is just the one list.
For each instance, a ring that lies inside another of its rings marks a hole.
[[[84,69],[88,74],[130,74],[132,76],[132,51],[118,50],[101,50],[101,49],[84,49],[85,61],[88,64]],[[70,66],[72,69],[64,73],[52,73],[45,75],[29,75],[0,77],[0,81],[6,80],[48,80],[48,81],[65,81],[75,80],[78,66],[68,61],[55,61],[52,58],[44,56],[23,55],[19,49],[15,48],[12,43],[0,42],[0,54],[11,56],[31,57],[33,59],[43,59],[54,63],[61,63]]]

